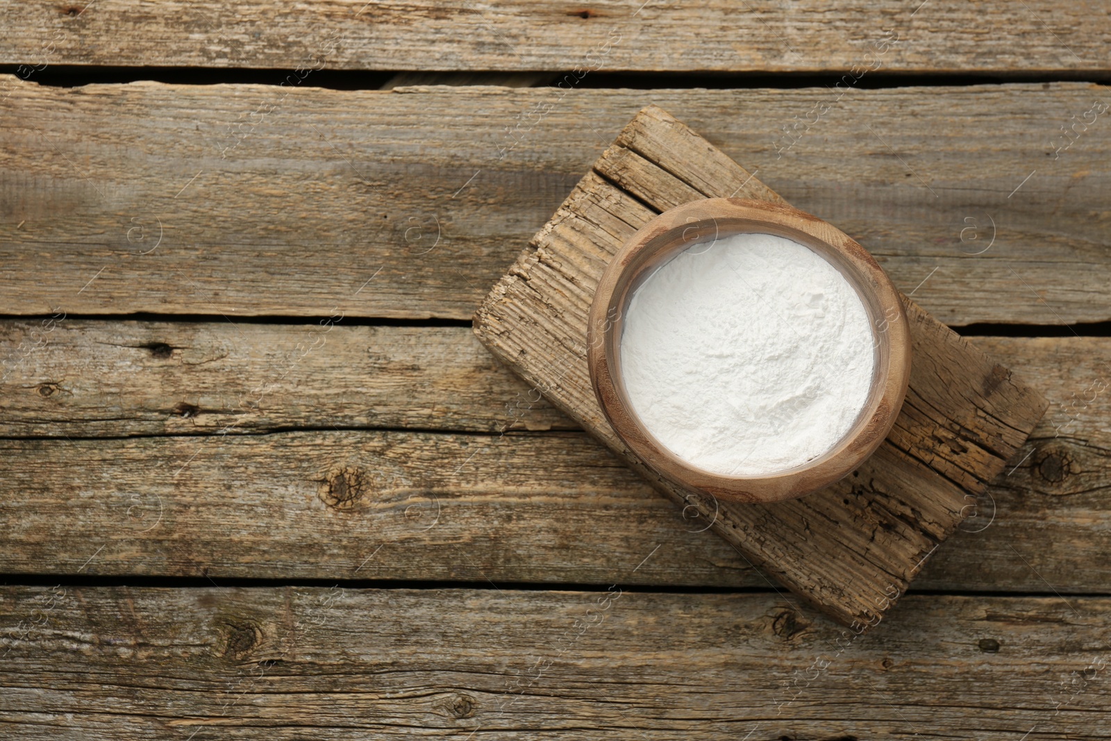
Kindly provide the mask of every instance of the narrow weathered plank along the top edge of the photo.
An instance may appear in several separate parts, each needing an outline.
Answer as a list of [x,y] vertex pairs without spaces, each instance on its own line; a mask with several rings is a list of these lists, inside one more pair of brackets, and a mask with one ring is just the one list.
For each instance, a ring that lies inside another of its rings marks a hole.
[[[88,9],[86,9],[88,8]],[[370,70],[1107,71],[1102,4],[932,0],[698,7],[599,0],[288,8],[13,3],[6,64]],[[93,12],[96,11],[96,12]],[[613,40],[607,44],[608,40]],[[898,39],[883,43],[884,39]]]

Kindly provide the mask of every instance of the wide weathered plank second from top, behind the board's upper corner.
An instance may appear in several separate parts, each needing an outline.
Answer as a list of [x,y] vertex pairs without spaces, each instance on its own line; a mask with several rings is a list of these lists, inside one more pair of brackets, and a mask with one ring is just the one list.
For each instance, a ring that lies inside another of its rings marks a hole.
[[18,84],[0,313],[466,319],[657,102],[945,323],[1111,319],[1111,128],[1083,122],[1107,88],[840,94]]

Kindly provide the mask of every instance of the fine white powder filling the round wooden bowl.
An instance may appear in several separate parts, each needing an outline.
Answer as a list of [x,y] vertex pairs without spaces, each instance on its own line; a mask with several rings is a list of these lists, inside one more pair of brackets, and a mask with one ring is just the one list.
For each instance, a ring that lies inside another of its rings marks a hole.
[[633,293],[621,375],[671,452],[725,475],[813,460],[849,431],[874,367],[868,313],[808,247],[772,234],[695,244]]

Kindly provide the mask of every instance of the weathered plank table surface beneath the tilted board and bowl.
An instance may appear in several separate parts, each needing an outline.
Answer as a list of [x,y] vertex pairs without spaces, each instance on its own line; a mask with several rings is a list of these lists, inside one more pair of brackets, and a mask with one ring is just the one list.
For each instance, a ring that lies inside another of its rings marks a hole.
[[[1111,738],[1105,3],[3,17],[0,737]],[[471,331],[652,102],[1052,402],[861,635]]]

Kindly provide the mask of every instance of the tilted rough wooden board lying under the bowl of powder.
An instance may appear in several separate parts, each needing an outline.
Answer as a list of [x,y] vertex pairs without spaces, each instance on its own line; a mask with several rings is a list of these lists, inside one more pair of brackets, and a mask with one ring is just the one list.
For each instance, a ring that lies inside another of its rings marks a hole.
[[[630,167],[622,163],[632,162]],[[882,617],[1025,442],[1048,402],[904,298],[910,387],[851,475],[802,499],[727,505],[664,481],[605,421],[587,371],[587,313],[607,261],[652,216],[699,197],[774,198],[659,107],[637,114],[474,317],[479,339],[680,507],[845,624]]]

